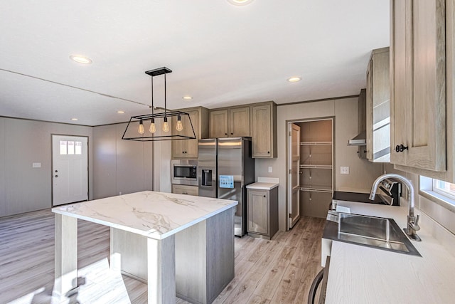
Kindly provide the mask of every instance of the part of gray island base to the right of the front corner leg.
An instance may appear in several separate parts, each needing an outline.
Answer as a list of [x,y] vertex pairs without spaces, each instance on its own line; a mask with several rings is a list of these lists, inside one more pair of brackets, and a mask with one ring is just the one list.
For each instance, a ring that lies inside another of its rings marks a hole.
[[234,278],[234,213],[228,209],[176,234],[178,298],[212,303]]

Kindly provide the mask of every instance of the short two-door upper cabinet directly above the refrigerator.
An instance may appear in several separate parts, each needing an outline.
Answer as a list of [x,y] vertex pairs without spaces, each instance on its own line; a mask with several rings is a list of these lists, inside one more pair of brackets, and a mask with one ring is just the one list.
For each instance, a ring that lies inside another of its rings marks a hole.
[[210,111],[210,138],[250,136],[250,106]]

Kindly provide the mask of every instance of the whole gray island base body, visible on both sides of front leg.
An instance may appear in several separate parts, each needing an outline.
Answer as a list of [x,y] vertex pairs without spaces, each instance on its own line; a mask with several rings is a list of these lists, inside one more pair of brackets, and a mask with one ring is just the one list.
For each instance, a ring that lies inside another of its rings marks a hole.
[[[230,208],[175,235],[174,296],[190,303],[212,303],[232,281],[234,212]],[[112,228],[111,268],[147,283],[147,243],[145,236]]]

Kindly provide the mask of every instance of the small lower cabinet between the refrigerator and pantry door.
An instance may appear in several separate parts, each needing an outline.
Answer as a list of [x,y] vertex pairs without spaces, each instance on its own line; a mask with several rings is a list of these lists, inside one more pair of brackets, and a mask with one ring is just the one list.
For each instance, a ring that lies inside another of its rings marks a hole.
[[[248,235],[272,239],[278,231],[278,187],[257,188],[254,183],[247,186],[247,230]],[[272,184],[273,185],[273,184]]]

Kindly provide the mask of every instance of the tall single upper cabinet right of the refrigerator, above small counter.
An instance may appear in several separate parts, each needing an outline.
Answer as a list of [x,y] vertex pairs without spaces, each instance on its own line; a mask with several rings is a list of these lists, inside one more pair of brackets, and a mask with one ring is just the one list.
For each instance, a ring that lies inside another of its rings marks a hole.
[[277,105],[260,103],[251,107],[252,157],[277,157]]

